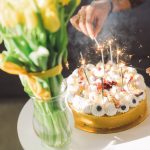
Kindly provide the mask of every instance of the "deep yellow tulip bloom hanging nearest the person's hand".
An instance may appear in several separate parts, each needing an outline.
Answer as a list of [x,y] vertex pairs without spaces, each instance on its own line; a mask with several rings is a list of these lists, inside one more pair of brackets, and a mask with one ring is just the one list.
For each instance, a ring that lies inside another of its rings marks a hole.
[[41,12],[45,28],[50,32],[56,32],[60,28],[60,20],[54,5],[45,7]]

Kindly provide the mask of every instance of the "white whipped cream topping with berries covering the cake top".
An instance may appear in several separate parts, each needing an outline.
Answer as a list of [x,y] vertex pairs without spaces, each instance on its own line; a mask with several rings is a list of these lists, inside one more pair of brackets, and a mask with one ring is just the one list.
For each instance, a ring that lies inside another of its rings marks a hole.
[[77,68],[67,78],[67,85],[67,99],[73,108],[99,117],[126,113],[146,98],[143,76],[132,67],[111,62]]

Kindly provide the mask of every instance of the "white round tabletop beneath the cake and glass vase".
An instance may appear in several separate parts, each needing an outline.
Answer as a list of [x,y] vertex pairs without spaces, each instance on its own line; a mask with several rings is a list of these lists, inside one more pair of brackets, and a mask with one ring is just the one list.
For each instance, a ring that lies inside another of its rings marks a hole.
[[[150,110],[150,89],[147,89]],[[18,137],[25,150],[54,150],[42,145],[32,127],[33,104],[29,100],[18,118]],[[73,124],[73,120],[70,119]],[[69,150],[149,150],[150,115],[140,124],[128,130],[111,134],[93,134],[73,128]],[[66,149],[64,149],[66,150]]]

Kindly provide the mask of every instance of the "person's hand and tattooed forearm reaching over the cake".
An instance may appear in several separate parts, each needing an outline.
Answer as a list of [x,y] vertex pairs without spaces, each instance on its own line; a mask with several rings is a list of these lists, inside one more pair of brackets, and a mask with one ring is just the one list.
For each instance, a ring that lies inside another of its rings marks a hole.
[[119,12],[140,5],[144,0],[95,0],[83,6],[71,18],[72,25],[93,38],[102,30],[104,22],[111,12]]

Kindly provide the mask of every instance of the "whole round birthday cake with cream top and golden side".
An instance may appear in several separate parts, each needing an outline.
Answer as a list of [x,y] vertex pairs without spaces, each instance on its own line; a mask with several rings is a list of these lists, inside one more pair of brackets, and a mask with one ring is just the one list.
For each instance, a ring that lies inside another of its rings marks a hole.
[[67,85],[75,126],[81,130],[100,133],[119,129],[146,113],[144,78],[122,63],[81,66],[67,78]]

